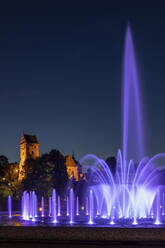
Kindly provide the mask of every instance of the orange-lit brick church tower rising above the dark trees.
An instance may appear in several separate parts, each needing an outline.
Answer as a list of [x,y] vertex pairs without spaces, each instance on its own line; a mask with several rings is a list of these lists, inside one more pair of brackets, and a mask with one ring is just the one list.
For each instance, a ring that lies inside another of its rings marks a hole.
[[20,164],[19,164],[19,181],[25,176],[25,161],[27,159],[36,159],[39,157],[39,143],[34,135],[22,134],[20,142]]

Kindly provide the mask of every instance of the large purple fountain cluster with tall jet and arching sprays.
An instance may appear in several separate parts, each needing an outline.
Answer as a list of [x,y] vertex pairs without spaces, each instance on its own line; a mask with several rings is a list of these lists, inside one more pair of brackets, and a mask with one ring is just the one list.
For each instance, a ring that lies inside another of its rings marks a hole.
[[150,218],[154,218],[155,224],[160,223],[158,180],[165,154],[151,159],[144,156],[142,127],[135,54],[128,26],[123,74],[123,152],[118,151],[116,172],[112,174],[105,161],[95,155],[86,155],[80,161],[84,168],[92,170],[97,182],[91,186],[97,205],[95,212],[100,218],[109,218],[111,224],[127,219],[136,225]]

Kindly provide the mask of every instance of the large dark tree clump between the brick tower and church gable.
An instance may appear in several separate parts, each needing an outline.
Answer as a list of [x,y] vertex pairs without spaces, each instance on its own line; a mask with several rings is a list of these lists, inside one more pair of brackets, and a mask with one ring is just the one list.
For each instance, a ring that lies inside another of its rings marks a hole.
[[43,154],[36,160],[27,160],[24,169],[23,190],[34,190],[39,197],[47,197],[55,188],[57,194],[64,195],[68,174],[65,157],[58,150]]

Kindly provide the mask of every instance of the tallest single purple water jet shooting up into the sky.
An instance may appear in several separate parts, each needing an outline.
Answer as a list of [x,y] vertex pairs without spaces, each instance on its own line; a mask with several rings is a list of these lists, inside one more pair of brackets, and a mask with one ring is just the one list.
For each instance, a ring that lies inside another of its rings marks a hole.
[[[123,161],[140,161],[144,156],[144,133],[135,52],[130,26],[127,27],[123,75]],[[127,165],[125,165],[127,166]]]

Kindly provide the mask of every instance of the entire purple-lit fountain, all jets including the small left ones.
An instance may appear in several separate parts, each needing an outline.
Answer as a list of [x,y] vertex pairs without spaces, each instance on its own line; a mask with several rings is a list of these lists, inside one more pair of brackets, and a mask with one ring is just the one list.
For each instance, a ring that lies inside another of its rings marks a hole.
[[[90,186],[84,192],[83,208],[80,197],[75,196],[72,188],[65,197],[65,208],[62,207],[62,198],[53,189],[46,211],[46,200],[41,198],[39,215],[35,192],[25,191],[22,196],[23,220],[35,222],[42,217],[45,223],[55,225],[74,225],[80,220],[81,225],[90,226],[100,223],[104,226],[135,226],[145,223],[159,225],[164,221],[165,193],[160,190],[159,179],[163,174],[165,154],[157,154],[152,158],[144,156],[140,90],[129,26],[126,31],[123,69],[123,149],[117,153],[115,173],[112,173],[104,160],[95,155],[86,155],[79,164],[84,171],[90,168],[92,173]],[[8,213],[11,217],[10,196]]]

